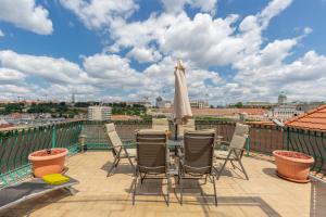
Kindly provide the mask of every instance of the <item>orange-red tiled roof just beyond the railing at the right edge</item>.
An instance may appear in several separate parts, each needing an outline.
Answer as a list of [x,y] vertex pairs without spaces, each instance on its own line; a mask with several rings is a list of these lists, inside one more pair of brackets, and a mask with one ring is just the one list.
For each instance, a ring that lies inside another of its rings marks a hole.
[[326,131],[326,105],[293,117],[285,124],[289,127]]

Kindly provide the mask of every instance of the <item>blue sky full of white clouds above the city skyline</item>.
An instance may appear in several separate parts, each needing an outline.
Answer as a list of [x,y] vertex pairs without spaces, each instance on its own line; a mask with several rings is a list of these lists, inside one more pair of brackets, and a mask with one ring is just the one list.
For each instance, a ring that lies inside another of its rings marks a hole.
[[325,0],[0,0],[0,100],[326,100]]

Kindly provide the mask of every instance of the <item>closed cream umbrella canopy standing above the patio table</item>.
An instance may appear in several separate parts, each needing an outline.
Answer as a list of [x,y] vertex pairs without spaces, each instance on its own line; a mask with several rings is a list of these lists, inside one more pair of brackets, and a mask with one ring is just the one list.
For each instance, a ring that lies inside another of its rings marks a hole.
[[175,92],[173,116],[176,124],[185,124],[189,117],[192,117],[192,112],[188,97],[185,67],[183,66],[181,61],[178,61],[177,65],[175,66],[174,75]]

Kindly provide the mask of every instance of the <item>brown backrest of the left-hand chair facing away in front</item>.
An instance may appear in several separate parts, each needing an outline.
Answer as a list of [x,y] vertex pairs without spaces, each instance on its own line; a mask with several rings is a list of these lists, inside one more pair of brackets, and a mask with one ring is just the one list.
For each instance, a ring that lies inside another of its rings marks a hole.
[[167,171],[168,148],[164,130],[139,130],[136,132],[137,166],[140,173],[164,174]]

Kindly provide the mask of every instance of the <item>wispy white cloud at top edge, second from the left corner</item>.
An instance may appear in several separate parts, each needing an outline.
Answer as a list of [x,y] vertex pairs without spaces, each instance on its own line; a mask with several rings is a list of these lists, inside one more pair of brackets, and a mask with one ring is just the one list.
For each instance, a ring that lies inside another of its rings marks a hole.
[[133,0],[60,0],[75,13],[88,28],[108,27],[116,18],[127,18],[138,5]]

